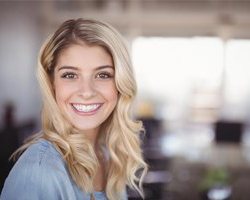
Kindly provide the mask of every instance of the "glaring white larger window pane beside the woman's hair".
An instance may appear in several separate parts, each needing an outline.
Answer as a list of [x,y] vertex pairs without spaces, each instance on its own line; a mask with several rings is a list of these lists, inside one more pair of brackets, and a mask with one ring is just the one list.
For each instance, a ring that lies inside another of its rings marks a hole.
[[182,98],[194,87],[216,88],[223,70],[218,38],[136,38],[132,57],[142,95]]

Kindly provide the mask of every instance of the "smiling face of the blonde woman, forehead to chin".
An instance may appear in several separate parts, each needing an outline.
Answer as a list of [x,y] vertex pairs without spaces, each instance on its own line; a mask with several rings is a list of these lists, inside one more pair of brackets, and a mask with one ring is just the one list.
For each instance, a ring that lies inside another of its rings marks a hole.
[[112,57],[100,46],[71,45],[59,55],[56,102],[77,129],[97,133],[114,110],[118,98],[114,75]]

